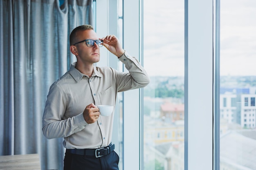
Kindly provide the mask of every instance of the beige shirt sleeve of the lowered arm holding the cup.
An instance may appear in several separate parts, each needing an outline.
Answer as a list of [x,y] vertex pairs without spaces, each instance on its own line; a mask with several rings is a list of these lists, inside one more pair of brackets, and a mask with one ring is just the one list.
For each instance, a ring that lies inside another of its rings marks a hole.
[[43,115],[43,134],[48,139],[70,136],[88,125],[83,113],[63,120],[66,109],[64,96],[56,84],[50,87]]

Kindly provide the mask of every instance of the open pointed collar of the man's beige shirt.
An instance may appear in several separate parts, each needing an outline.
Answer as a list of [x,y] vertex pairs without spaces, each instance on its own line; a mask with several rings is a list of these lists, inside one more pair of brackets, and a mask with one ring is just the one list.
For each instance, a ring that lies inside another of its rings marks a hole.
[[[73,62],[70,65],[70,70],[69,73],[72,75],[72,77],[76,80],[76,82],[79,82],[83,76],[86,76],[85,74],[81,73],[79,70],[75,68],[76,62]],[[93,73],[92,77],[97,76],[97,77],[102,77],[102,74],[97,70],[96,66],[93,66]]]

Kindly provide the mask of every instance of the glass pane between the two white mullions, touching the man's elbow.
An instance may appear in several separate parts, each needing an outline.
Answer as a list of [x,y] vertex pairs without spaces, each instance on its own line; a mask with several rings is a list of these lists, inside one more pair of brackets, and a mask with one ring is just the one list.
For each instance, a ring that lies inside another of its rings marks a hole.
[[144,170],[184,170],[184,1],[144,1]]

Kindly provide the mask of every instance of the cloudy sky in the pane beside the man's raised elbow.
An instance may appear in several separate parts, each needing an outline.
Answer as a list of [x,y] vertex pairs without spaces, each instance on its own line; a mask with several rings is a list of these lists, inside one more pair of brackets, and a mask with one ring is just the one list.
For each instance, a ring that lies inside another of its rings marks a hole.
[[144,68],[150,76],[184,76],[184,1],[161,2],[144,1]]

